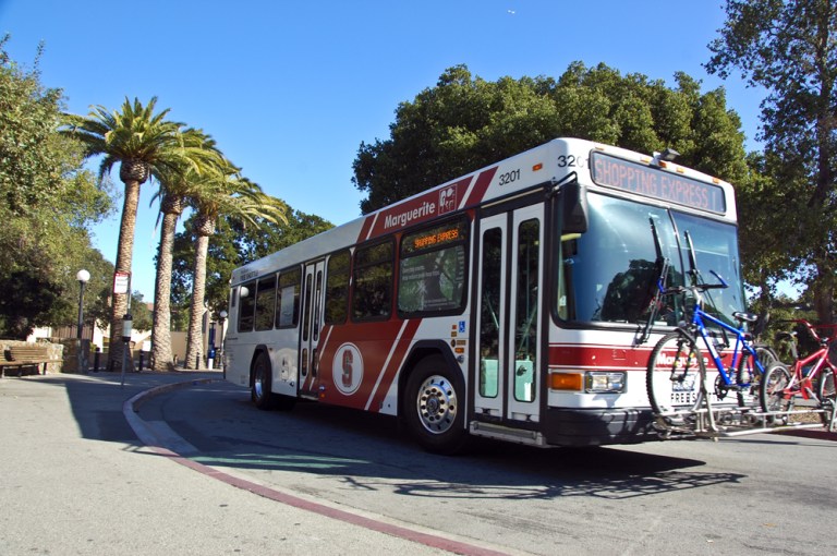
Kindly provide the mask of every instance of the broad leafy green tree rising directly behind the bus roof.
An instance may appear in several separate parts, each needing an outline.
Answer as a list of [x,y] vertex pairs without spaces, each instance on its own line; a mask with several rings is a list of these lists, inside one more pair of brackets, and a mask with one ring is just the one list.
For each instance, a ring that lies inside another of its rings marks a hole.
[[748,177],[738,116],[723,89],[700,93],[683,73],[676,88],[599,64],[570,64],[557,81],[501,77],[486,82],[464,65],[401,102],[390,137],[362,143],[355,186],[364,213],[532,148],[578,136],[652,153],[671,147],[680,162],[731,182]]

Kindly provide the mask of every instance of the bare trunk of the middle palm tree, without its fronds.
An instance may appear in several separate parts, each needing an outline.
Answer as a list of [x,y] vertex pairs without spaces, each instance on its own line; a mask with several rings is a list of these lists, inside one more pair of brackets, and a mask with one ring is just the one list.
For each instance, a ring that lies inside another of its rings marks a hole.
[[171,266],[178,218],[183,213],[181,197],[166,195],[160,209],[162,229],[157,251],[157,277],[154,286],[154,327],[151,328],[151,370],[173,368],[171,353]]

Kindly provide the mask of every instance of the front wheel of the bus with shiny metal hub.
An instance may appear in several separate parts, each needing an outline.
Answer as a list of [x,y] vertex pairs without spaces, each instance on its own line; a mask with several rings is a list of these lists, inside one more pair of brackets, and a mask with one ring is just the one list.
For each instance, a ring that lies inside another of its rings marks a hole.
[[407,379],[402,407],[408,431],[427,451],[452,455],[464,446],[462,374],[439,354],[422,359]]

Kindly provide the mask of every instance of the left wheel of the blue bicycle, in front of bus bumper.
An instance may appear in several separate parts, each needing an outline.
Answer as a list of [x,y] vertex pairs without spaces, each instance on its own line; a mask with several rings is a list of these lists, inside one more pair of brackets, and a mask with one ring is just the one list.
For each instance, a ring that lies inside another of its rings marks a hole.
[[681,413],[666,419],[672,424],[682,422],[682,415],[703,401],[705,379],[706,367],[695,341],[683,333],[667,334],[654,346],[645,372],[651,409],[656,414]]

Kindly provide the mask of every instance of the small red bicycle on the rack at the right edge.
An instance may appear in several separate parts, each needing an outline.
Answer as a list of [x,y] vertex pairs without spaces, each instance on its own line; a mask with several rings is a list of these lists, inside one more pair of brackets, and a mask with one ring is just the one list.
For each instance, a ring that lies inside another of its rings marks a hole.
[[[811,400],[812,403],[804,404],[803,411],[820,413],[823,424],[833,428],[837,400],[834,375],[837,370],[828,359],[828,351],[837,339],[837,325],[812,325],[803,318],[789,322],[803,325],[820,345],[820,349],[800,359],[796,333],[783,333],[784,337],[790,339],[793,368],[791,371],[779,361],[767,367],[760,387],[762,409],[767,413],[777,413],[778,415],[773,416],[774,421],[779,419],[787,423],[790,413],[794,411],[797,400]],[[817,329],[830,333],[821,336]]]

